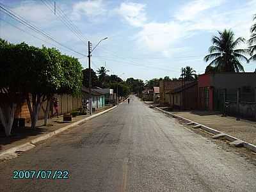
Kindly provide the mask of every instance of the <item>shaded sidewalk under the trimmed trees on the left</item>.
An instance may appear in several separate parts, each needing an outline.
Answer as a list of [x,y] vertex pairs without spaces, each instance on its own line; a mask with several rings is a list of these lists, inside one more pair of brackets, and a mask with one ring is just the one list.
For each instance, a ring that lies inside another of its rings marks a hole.
[[[93,113],[93,115],[100,113],[101,111],[105,111],[106,109],[111,108],[112,106],[107,106],[105,108],[99,109]],[[50,132],[56,131],[62,127],[66,127],[67,125],[74,124],[79,120],[83,120],[84,118],[89,117],[90,115],[79,115],[72,118],[72,122],[63,122],[63,116],[61,115],[59,118],[51,118],[48,120],[47,126],[44,126],[44,120],[38,120],[36,123],[36,129],[33,130],[30,128],[30,124],[26,124],[26,127],[20,130],[17,130],[13,133],[10,138],[6,138],[1,134],[0,136],[0,153],[4,150],[8,150],[12,147],[16,147],[18,145],[23,145],[28,143],[39,136],[48,134]]]

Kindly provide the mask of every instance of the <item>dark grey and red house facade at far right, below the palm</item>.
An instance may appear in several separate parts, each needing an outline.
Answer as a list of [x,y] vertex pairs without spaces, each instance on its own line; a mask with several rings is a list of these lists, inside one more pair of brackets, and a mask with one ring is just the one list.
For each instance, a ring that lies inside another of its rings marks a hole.
[[198,108],[223,111],[228,102],[230,113],[255,116],[255,88],[254,72],[202,74],[198,77]]

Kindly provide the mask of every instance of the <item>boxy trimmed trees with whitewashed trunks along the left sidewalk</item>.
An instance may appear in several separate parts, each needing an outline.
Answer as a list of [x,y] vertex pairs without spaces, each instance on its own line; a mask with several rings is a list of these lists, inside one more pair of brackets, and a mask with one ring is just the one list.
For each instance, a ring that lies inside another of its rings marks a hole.
[[10,44],[0,40],[0,120],[6,136],[10,136],[15,109],[26,100],[35,129],[42,103],[54,93],[78,95],[82,85],[82,66],[71,56],[54,48]]

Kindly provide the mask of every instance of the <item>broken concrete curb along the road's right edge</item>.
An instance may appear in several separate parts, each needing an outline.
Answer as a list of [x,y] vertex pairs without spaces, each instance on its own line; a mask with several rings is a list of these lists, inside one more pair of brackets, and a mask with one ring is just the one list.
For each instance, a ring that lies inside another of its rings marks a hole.
[[202,124],[198,124],[196,122],[193,122],[192,120],[189,120],[188,118],[184,118],[182,116],[179,115],[175,115],[173,113],[170,113],[168,111],[164,111],[163,109],[151,106],[152,108],[156,108],[159,111],[162,111],[163,113],[172,116],[173,118],[178,118],[179,120],[182,120],[184,122],[186,122],[187,124],[191,123],[193,125],[196,126],[196,128],[200,127],[199,129],[203,129],[204,131],[210,132],[211,134],[223,134],[224,138],[230,142],[234,142],[234,141],[240,141],[241,143],[243,143],[243,147],[248,148],[249,150],[252,150],[253,152],[256,152],[256,146],[253,145],[252,143],[247,143],[246,141],[243,140],[239,140],[238,138],[235,138],[234,136],[231,136],[229,134],[225,134],[224,132],[220,132],[217,131],[216,129],[212,129],[211,127],[207,127],[205,125]]

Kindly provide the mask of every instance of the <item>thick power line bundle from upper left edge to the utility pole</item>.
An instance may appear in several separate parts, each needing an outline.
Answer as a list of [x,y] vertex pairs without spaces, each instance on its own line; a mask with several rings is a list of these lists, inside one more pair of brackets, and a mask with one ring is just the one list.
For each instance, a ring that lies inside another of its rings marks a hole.
[[49,40],[56,42],[56,44],[61,45],[61,47],[65,47],[66,49],[68,49],[69,51],[72,52],[76,52],[77,54],[81,54],[83,56],[86,56],[85,54],[75,51],[74,49],[71,49],[69,47],[67,47],[66,45],[61,44],[60,42],[54,40],[54,38],[52,38],[49,34],[47,34],[45,31],[42,31],[41,29],[37,28],[36,26],[34,26],[33,24],[30,24],[26,19],[24,19],[23,17],[21,17],[20,15],[18,15],[17,13],[13,12],[12,10],[7,10],[6,8],[4,8],[4,4],[0,3],[1,6],[1,12],[5,13],[6,15],[8,15],[9,17],[12,17],[12,19],[17,20],[18,22],[20,22],[20,24],[23,24],[24,26],[27,26],[28,28],[32,29],[33,31],[35,31],[36,33],[45,36],[46,38],[48,38]]

